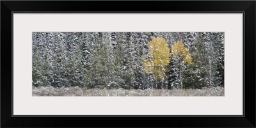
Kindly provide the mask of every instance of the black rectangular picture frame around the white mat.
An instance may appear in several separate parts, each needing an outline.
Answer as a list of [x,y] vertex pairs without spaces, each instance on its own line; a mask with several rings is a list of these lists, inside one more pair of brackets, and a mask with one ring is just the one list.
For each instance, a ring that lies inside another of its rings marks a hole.
[[[255,127],[255,4],[255,1],[1,1],[1,127]],[[13,116],[13,12],[243,12],[244,115]]]

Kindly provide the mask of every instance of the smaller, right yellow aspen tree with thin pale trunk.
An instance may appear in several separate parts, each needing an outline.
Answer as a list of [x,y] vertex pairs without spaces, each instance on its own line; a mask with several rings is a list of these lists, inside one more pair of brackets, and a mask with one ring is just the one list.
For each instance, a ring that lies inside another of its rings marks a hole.
[[171,48],[172,48],[171,54],[173,55],[174,58],[176,58],[179,61],[180,86],[183,88],[181,70],[182,70],[182,66],[185,63],[188,63],[189,65],[191,64],[191,61],[192,61],[191,54],[189,53],[189,50],[184,46],[184,44],[182,44],[180,40],[178,40],[177,42],[174,42]]

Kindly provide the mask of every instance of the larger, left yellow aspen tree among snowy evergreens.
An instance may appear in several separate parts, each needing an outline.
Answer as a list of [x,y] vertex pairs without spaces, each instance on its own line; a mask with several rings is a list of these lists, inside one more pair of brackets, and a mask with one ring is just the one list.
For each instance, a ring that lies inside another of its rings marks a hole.
[[[163,86],[163,79],[166,72],[166,66],[170,62],[170,47],[164,38],[155,37],[148,42],[148,58],[142,56],[143,67],[147,74],[152,73],[156,81],[161,80]],[[156,83],[157,88],[157,83]]]

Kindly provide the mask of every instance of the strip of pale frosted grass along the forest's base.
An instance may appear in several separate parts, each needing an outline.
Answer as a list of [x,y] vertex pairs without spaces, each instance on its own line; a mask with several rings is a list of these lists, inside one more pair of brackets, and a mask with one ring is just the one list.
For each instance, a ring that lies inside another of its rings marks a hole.
[[187,90],[101,90],[77,87],[54,88],[52,86],[33,86],[33,96],[224,96],[224,88],[203,88]]

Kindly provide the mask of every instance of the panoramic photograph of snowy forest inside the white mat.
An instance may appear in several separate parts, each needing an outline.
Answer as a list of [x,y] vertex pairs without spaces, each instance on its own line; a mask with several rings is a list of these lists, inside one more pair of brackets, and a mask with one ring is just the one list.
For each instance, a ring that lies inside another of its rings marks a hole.
[[224,32],[33,32],[32,96],[225,96]]

